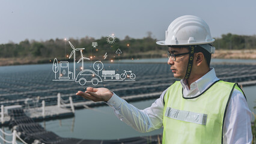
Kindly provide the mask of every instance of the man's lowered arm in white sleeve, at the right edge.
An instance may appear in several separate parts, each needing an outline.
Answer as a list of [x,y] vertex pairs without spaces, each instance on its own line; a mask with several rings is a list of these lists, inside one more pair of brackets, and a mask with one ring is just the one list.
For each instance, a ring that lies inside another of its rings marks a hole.
[[242,92],[234,89],[224,121],[224,143],[252,142],[251,111]]

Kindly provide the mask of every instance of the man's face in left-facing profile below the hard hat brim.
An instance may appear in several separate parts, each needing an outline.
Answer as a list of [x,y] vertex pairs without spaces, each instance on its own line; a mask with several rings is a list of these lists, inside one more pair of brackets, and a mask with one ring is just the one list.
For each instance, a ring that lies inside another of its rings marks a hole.
[[[169,47],[169,53],[177,55],[179,53],[187,53],[187,48]],[[171,65],[173,76],[178,79],[183,79],[186,75],[187,63],[189,61],[189,55],[176,56],[176,61],[173,61],[171,56],[168,59],[168,64]]]

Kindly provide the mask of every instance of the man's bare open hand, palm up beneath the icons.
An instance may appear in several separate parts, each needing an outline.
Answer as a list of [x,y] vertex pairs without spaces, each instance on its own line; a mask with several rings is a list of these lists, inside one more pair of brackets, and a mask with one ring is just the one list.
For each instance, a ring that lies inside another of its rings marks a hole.
[[78,91],[76,92],[76,95],[80,95],[81,97],[84,97],[88,100],[92,100],[94,102],[96,101],[108,101],[113,93],[109,91],[107,88],[92,88],[88,87],[87,91],[82,92]]

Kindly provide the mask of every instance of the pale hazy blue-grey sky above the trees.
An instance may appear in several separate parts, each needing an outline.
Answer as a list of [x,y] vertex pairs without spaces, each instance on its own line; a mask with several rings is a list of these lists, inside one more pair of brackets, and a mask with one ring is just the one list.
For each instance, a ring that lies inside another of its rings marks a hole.
[[256,1],[1,0],[0,44],[25,39],[152,37],[164,40],[172,20],[192,14],[206,21],[212,37],[255,35]]

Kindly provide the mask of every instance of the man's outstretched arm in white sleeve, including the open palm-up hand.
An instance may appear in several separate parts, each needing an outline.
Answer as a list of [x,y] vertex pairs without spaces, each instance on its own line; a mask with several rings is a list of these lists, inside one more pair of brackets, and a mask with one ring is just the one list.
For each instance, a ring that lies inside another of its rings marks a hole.
[[79,91],[77,95],[93,101],[107,101],[107,104],[114,109],[115,115],[121,121],[135,130],[145,133],[162,127],[163,96],[165,92],[150,107],[144,110],[137,109],[106,88],[87,88],[87,91]]

